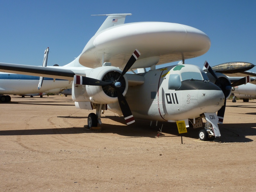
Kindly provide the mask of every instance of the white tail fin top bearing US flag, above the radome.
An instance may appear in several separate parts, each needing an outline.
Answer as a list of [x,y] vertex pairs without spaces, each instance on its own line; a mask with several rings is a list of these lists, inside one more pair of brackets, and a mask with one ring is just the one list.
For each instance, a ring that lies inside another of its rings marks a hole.
[[116,25],[124,24],[124,20],[126,15],[132,15],[131,13],[123,13],[123,14],[107,14],[107,19],[104,21],[104,23],[100,26],[99,30],[95,33],[99,33],[100,31],[113,27]]

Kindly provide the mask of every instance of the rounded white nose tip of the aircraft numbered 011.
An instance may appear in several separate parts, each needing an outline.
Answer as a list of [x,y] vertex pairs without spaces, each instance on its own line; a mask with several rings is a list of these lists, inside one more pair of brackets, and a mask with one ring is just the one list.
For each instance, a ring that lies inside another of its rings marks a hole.
[[224,93],[218,86],[215,86],[212,84],[211,87],[213,89],[203,89],[198,92],[198,104],[204,113],[215,113],[224,105]]

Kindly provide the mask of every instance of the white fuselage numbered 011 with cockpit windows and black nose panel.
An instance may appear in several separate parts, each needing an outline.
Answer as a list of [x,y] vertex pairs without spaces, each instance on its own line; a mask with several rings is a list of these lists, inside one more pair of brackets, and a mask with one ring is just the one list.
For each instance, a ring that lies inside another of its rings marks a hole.
[[[203,113],[215,113],[224,104],[223,92],[204,79],[207,78],[203,77],[204,72],[196,66],[171,66],[142,75],[145,82],[129,86],[125,95],[135,118],[157,121],[193,119]],[[108,104],[108,109],[122,114],[117,102]]]

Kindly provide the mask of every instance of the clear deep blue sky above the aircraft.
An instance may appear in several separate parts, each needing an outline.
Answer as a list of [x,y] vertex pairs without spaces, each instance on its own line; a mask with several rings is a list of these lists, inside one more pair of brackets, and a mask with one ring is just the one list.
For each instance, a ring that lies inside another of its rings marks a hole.
[[[211,39],[210,50],[186,63],[203,67],[244,61],[256,65],[256,1],[2,1],[0,62],[68,64],[83,50],[106,16],[132,13],[125,22],[164,21],[200,29]],[[176,64],[170,63],[170,65]],[[251,70],[256,72],[255,69]]]

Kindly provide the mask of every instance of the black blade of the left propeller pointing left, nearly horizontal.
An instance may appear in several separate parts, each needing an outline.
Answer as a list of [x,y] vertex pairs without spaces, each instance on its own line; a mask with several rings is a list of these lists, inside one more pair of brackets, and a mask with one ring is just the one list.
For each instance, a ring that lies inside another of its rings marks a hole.
[[74,75],[74,84],[95,85],[95,86],[112,85],[111,82],[105,82],[98,79],[93,79],[90,77],[84,77],[80,75]]

